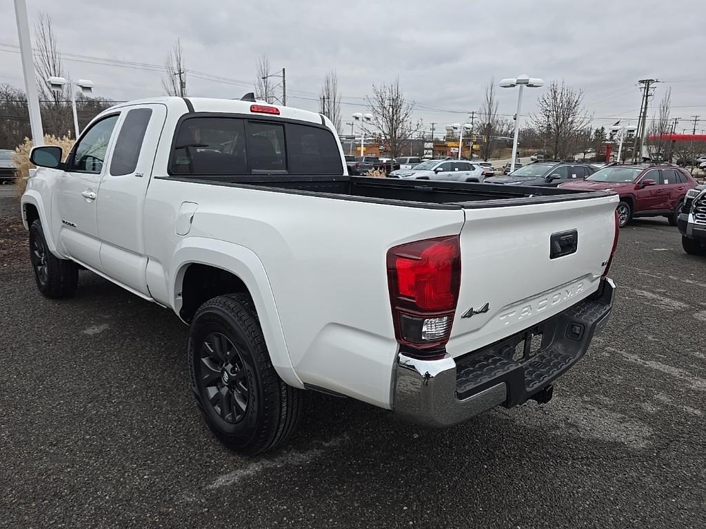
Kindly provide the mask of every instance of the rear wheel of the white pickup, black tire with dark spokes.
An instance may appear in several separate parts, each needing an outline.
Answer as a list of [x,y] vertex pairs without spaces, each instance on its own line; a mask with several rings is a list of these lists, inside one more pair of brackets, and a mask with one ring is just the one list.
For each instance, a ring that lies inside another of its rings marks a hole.
[[249,296],[218,296],[196,311],[189,370],[206,424],[229,449],[260,454],[294,431],[304,391],[277,375]]

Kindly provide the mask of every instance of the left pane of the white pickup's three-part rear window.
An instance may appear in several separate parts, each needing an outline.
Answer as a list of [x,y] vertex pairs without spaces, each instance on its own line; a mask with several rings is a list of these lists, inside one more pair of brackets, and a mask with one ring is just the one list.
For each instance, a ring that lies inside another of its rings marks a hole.
[[172,152],[172,174],[248,174],[245,126],[239,118],[188,118]]

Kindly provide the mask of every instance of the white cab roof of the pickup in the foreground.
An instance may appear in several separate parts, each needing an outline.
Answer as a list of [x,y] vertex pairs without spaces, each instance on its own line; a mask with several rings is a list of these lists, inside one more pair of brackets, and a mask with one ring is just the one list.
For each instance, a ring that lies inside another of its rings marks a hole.
[[[151,97],[149,99],[138,99],[136,101],[128,101],[126,103],[117,104],[113,109],[120,107],[129,107],[134,104],[160,103],[167,106],[167,111],[178,114],[186,114],[189,112],[189,107],[185,99],[191,102],[194,112],[215,112],[222,114],[253,114],[254,116],[267,116],[268,118],[276,118],[273,114],[260,114],[251,112],[250,107],[254,104],[261,104],[267,107],[275,107],[279,109],[280,118],[297,119],[299,121],[311,121],[311,123],[321,124],[321,114],[310,112],[308,110],[294,109],[292,107],[283,107],[279,104],[267,104],[264,102],[244,101],[242,99],[215,99],[211,97]],[[330,121],[326,119],[326,124],[330,126]]]

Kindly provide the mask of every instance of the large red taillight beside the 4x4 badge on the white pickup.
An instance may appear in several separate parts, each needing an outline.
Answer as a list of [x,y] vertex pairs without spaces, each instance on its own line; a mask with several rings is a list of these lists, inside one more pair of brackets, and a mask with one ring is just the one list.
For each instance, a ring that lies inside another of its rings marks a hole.
[[426,354],[439,353],[451,334],[461,282],[458,236],[390,248],[387,266],[395,338]]

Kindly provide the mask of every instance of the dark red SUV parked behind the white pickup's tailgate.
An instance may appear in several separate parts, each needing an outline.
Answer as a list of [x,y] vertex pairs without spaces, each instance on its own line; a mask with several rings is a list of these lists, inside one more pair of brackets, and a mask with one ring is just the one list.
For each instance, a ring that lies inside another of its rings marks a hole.
[[560,188],[615,191],[620,225],[633,217],[666,217],[676,226],[686,192],[698,186],[688,171],[671,165],[615,164],[599,169],[585,180]]

